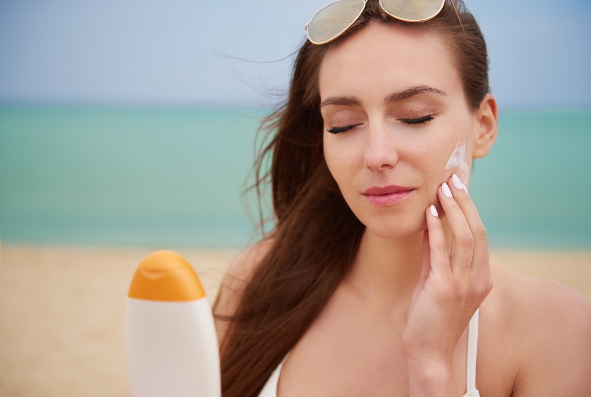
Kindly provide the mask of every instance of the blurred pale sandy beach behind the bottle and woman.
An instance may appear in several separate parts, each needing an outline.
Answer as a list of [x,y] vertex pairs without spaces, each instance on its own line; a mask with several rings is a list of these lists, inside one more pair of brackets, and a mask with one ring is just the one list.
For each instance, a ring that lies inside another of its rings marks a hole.
[[[153,249],[2,245],[0,396],[129,396],[125,297]],[[178,250],[211,301],[237,252]],[[492,250],[491,261],[551,278],[591,301],[591,251]]]

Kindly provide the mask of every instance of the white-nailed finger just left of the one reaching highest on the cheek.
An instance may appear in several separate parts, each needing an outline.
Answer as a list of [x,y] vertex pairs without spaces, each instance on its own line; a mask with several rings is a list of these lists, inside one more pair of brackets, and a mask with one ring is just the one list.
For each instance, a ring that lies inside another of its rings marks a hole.
[[450,263],[452,272],[467,274],[472,265],[472,251],[474,239],[472,230],[468,226],[466,217],[453,197],[452,191],[447,183],[441,184],[437,189],[441,207],[446,213],[449,228],[452,231],[452,253]]

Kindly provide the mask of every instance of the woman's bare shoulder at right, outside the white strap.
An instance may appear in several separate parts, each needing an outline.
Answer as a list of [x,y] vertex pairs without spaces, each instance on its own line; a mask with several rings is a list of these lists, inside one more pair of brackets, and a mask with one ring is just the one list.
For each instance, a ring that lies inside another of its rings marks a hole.
[[496,265],[491,271],[487,305],[512,354],[513,395],[590,395],[591,305],[557,281]]

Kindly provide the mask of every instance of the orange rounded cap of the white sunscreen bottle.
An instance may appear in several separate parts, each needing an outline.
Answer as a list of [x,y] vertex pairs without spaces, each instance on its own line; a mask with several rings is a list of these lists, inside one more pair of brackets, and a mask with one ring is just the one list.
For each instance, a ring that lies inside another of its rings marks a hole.
[[205,297],[205,291],[182,256],[156,251],[139,263],[128,296],[148,301],[193,301]]

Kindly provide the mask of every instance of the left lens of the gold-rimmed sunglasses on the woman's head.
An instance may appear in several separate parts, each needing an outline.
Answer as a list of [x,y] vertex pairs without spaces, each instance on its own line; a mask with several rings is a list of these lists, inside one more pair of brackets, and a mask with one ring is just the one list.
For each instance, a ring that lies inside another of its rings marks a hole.
[[324,44],[347,30],[365,8],[363,0],[340,0],[317,12],[308,25],[308,38],[314,44]]

